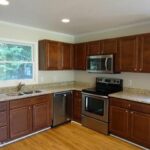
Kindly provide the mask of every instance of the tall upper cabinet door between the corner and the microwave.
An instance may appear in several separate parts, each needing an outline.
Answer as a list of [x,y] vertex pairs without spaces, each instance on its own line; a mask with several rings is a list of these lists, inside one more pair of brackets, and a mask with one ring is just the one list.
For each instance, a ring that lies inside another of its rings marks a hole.
[[74,49],[74,69],[86,70],[86,44],[75,44]]

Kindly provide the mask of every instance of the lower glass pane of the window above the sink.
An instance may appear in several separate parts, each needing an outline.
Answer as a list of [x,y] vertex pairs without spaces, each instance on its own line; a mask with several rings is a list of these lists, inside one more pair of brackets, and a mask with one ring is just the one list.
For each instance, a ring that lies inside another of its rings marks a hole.
[[0,63],[0,80],[33,79],[32,63]]

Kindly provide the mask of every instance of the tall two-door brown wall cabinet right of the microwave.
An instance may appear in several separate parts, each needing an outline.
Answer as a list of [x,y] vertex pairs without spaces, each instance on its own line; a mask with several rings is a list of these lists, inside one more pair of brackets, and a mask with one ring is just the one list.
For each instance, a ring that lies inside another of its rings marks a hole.
[[120,71],[150,72],[150,34],[119,39]]

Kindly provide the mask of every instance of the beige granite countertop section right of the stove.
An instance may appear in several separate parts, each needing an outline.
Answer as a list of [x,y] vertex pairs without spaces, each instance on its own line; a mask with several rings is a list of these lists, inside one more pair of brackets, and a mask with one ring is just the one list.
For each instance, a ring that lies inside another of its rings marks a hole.
[[148,90],[125,89],[122,92],[110,94],[109,97],[150,104],[150,91]]

